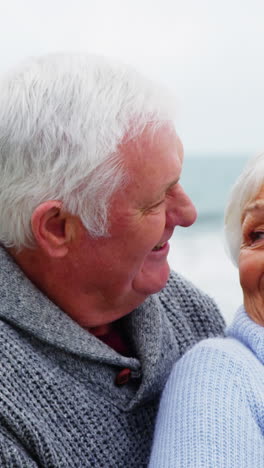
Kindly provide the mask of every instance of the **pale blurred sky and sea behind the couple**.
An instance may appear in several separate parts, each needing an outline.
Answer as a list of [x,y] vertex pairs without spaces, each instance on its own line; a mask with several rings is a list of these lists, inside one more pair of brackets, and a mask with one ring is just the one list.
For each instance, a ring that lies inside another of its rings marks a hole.
[[0,71],[27,56],[86,51],[134,65],[177,97],[182,183],[199,217],[175,230],[170,264],[228,323],[242,296],[223,212],[245,161],[264,150],[263,24],[262,0],[0,0]]

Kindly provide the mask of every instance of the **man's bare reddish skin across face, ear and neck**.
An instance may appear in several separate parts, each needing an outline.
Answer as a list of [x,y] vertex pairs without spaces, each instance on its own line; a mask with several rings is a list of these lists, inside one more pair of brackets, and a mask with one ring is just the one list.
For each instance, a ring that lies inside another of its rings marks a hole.
[[183,147],[175,130],[146,127],[119,152],[127,184],[112,196],[109,236],[94,238],[61,201],[40,204],[31,219],[37,247],[11,252],[54,303],[94,334],[105,334],[169,277],[169,239],[196,210],[179,182]]

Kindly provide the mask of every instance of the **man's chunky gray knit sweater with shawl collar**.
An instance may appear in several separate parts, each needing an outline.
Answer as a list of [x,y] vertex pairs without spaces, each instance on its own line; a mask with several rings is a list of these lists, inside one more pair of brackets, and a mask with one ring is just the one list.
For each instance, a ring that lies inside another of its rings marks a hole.
[[[49,301],[2,248],[0,265],[1,468],[146,466],[173,363],[223,329],[215,304],[172,274],[123,319],[128,358]],[[124,368],[131,379],[116,386]]]

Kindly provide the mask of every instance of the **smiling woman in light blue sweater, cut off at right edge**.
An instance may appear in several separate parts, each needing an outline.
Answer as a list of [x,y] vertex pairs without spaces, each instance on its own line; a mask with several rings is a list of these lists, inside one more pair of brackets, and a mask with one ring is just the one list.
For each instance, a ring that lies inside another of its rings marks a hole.
[[173,368],[150,467],[264,466],[264,154],[234,186],[225,229],[244,305],[225,338],[200,342]]

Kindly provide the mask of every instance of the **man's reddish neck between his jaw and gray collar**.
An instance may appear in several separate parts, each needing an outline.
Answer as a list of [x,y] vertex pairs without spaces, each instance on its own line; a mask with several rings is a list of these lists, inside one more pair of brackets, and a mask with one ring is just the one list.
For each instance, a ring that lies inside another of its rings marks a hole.
[[[25,275],[61,310],[81,327],[95,336],[111,331],[111,323],[124,317],[141,304],[145,297],[133,292],[118,295],[104,295],[93,284],[80,287],[71,263],[50,259],[41,250],[24,249],[17,252],[8,249]],[[118,298],[118,301],[117,301]]]

